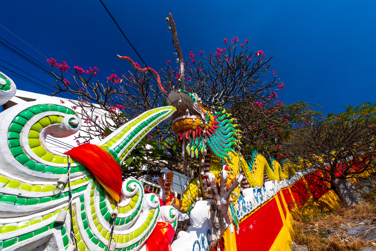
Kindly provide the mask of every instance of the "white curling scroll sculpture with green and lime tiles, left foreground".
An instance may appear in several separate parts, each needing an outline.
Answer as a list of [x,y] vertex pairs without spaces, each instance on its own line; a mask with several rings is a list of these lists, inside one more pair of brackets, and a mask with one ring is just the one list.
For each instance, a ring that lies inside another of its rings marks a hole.
[[[2,73],[0,76],[9,80]],[[175,110],[170,106],[146,111],[98,145],[120,163],[144,135]],[[157,196],[145,194],[135,179],[123,182],[117,203],[85,166],[70,158],[70,183],[60,189],[56,186],[68,173],[69,158],[50,149],[45,139],[47,135],[61,138],[78,132],[82,122],[71,108],[53,102],[26,102],[1,112],[0,121],[2,250],[31,251],[45,245],[48,250],[77,246],[78,251],[101,251],[108,248],[110,237],[116,251],[139,250],[158,222],[176,227],[175,209],[161,207]],[[118,214],[112,218],[115,208]],[[55,222],[62,211],[68,213],[65,221]]]

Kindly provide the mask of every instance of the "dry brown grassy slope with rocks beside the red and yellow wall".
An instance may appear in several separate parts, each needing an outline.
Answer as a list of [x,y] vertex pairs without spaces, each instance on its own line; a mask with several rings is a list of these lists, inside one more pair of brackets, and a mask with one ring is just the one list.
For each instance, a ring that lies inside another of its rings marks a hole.
[[[375,178],[374,178],[375,179]],[[366,204],[340,204],[329,213],[293,213],[295,251],[376,251],[376,189],[372,179],[354,184]],[[293,246],[293,245],[292,245]]]

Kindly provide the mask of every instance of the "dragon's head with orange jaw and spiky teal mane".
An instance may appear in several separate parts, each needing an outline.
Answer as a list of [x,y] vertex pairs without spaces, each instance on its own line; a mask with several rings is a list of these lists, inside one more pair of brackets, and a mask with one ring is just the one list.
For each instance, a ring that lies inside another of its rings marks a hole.
[[166,100],[177,112],[173,114],[172,130],[183,144],[183,155],[198,158],[211,151],[229,161],[229,152],[235,150],[238,135],[231,114],[218,106],[208,107],[195,93],[173,90]]

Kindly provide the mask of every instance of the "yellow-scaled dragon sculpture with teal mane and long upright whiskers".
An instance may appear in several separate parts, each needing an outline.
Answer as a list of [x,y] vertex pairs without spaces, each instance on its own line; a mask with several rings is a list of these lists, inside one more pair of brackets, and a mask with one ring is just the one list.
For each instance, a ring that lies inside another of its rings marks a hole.
[[[264,181],[282,181],[294,175],[295,170],[286,167],[283,172],[281,165],[274,159],[271,161],[271,167],[257,151],[253,152],[252,163],[248,165],[240,152],[240,130],[237,130],[237,125],[234,124],[236,119],[231,118],[231,114],[222,107],[216,106],[213,102],[209,107],[197,94],[185,90],[184,60],[171,13],[166,22],[170,23],[178,54],[177,62],[180,63],[180,87],[176,85],[168,93],[156,71],[151,68],[140,68],[131,58],[118,55],[120,59],[129,61],[137,71],[155,74],[160,91],[167,96],[164,104],[177,109],[172,115],[172,129],[178,141],[182,143],[185,172],[191,172],[191,175],[188,173],[191,178],[182,199],[176,198],[171,192],[174,175],[169,169],[162,170],[164,178],[154,180],[164,192],[163,201],[181,212],[188,212],[198,197],[214,200],[218,208],[215,221],[217,218],[225,219],[224,226],[230,226],[233,231],[233,223],[235,222],[235,226],[238,225],[233,204],[240,195],[241,187],[263,186]],[[198,159],[199,166],[189,168],[188,157]]]

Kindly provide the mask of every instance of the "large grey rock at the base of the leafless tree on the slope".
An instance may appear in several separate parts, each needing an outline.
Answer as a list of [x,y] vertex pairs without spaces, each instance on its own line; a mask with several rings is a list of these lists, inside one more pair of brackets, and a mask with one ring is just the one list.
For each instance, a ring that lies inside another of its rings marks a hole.
[[358,203],[366,203],[349,179],[334,180],[334,185],[347,205],[353,206]]

